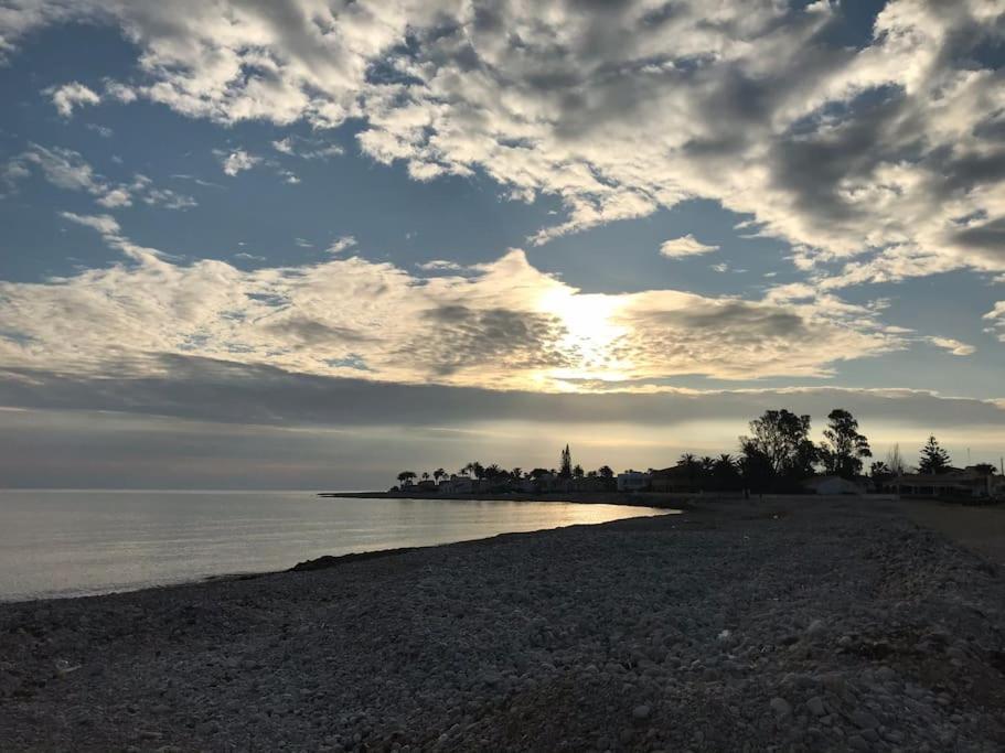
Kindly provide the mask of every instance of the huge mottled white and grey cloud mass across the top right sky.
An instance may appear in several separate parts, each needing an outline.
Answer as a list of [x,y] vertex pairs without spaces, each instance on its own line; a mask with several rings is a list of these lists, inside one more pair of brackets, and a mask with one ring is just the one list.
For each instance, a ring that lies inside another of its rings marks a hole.
[[[68,18],[117,20],[130,96],[222,123],[363,125],[416,180],[481,171],[556,195],[538,243],[704,197],[790,243],[832,288],[1001,272],[999,3],[891,0],[857,46],[837,3],[652,0],[56,2],[0,19],[0,54]],[[293,150],[295,142],[277,143]],[[235,164],[235,170],[238,168]]]

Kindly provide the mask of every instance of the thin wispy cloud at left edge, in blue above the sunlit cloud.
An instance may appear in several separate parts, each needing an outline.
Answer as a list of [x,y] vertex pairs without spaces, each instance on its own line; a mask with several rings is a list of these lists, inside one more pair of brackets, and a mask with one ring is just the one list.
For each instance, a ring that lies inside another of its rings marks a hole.
[[170,189],[154,187],[153,181],[140,173],[135,174],[130,183],[113,183],[96,172],[79,152],[60,147],[45,148],[36,143],[11,158],[0,173],[0,180],[9,192],[14,192],[18,184],[31,175],[32,169],[40,171],[46,181],[58,189],[90,194],[95,197],[95,203],[106,209],[132,206],[135,200],[167,209],[196,206],[192,196]]

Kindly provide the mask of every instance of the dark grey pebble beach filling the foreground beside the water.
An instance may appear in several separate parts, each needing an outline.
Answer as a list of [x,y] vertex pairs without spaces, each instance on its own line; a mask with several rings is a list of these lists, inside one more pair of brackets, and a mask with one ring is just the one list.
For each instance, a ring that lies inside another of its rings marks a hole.
[[708,504],[0,605],[0,749],[999,751],[1005,581],[894,504]]

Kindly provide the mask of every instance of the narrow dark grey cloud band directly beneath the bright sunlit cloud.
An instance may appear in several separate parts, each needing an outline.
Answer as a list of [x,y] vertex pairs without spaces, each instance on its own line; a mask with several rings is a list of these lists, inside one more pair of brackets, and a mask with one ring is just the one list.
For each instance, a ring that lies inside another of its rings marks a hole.
[[159,361],[170,377],[85,378],[7,369],[0,372],[0,406],[277,427],[428,427],[501,420],[669,427],[730,419],[738,421],[738,431],[748,418],[780,405],[819,418],[844,406],[873,420],[1005,429],[1005,410],[995,404],[912,390],[821,387],[545,395],[327,378],[185,356]]

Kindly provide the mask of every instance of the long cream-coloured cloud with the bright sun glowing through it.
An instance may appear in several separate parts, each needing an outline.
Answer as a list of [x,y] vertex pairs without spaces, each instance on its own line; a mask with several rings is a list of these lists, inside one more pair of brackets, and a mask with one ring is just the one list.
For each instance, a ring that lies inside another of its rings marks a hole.
[[[822,377],[842,359],[906,347],[866,306],[833,299],[584,293],[521,250],[416,277],[359,257],[240,270],[174,263],[108,215],[64,214],[128,261],[44,283],[0,283],[0,363],[149,374],[164,354],[545,391],[657,387],[681,375]],[[309,347],[308,347],[309,345]]]

